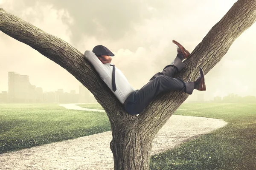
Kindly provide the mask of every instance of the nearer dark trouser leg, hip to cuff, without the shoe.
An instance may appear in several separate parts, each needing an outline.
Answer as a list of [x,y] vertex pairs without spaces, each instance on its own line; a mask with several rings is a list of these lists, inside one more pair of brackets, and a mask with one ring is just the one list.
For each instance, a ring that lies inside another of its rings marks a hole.
[[160,92],[181,90],[187,93],[186,89],[188,85],[194,88],[194,84],[189,82],[186,84],[186,82],[183,82],[179,78],[158,76],[126,99],[128,104],[125,110],[129,114],[139,114]]

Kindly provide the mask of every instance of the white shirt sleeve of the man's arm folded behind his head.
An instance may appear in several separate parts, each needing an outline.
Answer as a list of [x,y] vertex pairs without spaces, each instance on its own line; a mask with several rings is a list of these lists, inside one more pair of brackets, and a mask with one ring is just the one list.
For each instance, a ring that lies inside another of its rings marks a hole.
[[84,57],[89,60],[95,70],[99,73],[100,77],[108,77],[108,69],[105,67],[105,65],[103,65],[98,57],[96,57],[93,51],[85,51]]

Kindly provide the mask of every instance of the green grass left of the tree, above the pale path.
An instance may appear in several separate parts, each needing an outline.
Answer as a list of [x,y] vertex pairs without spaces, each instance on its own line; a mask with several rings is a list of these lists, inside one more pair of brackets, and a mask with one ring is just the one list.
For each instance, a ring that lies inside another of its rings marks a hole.
[[0,153],[111,130],[106,113],[57,104],[0,104]]

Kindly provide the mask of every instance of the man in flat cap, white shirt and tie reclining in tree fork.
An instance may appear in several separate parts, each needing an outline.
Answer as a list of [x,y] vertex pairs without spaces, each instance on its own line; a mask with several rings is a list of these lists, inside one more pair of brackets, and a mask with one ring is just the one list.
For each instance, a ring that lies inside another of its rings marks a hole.
[[177,57],[163,68],[162,72],[155,74],[149,82],[140,90],[131,87],[122,72],[111,63],[114,54],[105,46],[97,45],[93,51],[85,51],[88,59],[102,80],[108,85],[113,94],[124,105],[125,111],[135,115],[141,113],[144,108],[162,91],[181,90],[192,94],[194,89],[205,91],[204,72],[199,69],[199,77],[195,82],[184,82],[182,79],[173,78],[173,75],[184,68],[183,59],[190,53],[180,43],[172,40],[177,45]]

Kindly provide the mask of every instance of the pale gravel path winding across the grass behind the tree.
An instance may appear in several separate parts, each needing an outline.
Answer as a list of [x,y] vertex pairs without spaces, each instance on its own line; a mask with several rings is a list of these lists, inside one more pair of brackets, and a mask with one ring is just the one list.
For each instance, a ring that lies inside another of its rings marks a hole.
[[[72,109],[71,104],[66,106]],[[220,119],[173,115],[153,140],[151,154],[177,147],[225,125],[227,122]],[[113,170],[111,139],[111,131],[108,131],[3,153],[0,154],[0,170]]]

